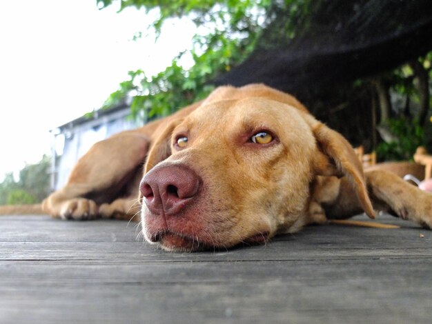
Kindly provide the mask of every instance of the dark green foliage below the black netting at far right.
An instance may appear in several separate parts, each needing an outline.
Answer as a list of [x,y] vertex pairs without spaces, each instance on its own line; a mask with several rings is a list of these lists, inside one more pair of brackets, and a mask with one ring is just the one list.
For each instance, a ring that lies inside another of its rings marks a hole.
[[382,74],[374,81],[380,97],[382,141],[377,156],[384,160],[411,160],[418,146],[431,149],[430,95],[432,52]]

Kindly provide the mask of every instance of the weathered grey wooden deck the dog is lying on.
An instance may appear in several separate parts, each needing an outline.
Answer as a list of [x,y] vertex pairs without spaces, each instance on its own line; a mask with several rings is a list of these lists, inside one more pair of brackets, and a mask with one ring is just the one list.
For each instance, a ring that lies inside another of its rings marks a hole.
[[380,221],[403,228],[173,254],[135,223],[0,216],[0,323],[431,323],[432,232]]

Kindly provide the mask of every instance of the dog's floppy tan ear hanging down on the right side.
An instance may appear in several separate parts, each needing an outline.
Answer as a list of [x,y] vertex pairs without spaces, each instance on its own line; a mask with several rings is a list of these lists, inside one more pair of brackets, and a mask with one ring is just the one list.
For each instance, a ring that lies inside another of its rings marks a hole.
[[344,137],[323,123],[308,116],[313,135],[317,140],[318,152],[314,160],[315,172],[323,176],[346,176],[357,192],[362,208],[372,219],[375,218],[371,200],[366,188],[362,163],[352,146]]

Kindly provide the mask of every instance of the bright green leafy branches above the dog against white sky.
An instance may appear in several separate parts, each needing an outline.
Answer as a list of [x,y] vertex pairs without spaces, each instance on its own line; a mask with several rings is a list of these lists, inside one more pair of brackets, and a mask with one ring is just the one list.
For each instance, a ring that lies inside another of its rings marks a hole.
[[141,111],[147,117],[164,116],[206,97],[213,90],[211,81],[215,76],[230,70],[255,48],[266,9],[271,6],[270,0],[99,0],[99,8],[113,2],[120,3],[120,11],[130,6],[146,12],[157,10],[159,17],[148,26],[157,34],[167,19],[187,16],[197,26],[189,53],[193,59],[191,68],[179,63],[183,52],[155,76],[148,76],[143,70],[130,71],[130,79],[122,82],[104,105],[109,108],[127,95],[132,99],[135,117]]

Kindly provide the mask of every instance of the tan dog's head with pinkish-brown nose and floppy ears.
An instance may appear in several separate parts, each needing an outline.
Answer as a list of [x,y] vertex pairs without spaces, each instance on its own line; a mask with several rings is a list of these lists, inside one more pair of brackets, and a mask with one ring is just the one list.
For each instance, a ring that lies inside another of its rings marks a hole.
[[348,176],[373,214],[346,140],[306,110],[268,98],[211,102],[173,121],[145,169],[144,236],[166,250],[264,243],[295,232],[318,174]]

